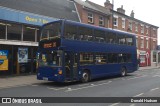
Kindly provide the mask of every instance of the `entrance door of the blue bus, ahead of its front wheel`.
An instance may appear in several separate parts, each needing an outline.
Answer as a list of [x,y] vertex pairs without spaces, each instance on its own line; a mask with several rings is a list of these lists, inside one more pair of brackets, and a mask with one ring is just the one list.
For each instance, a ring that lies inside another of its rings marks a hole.
[[66,79],[71,81],[77,78],[77,56],[73,52],[65,52]]

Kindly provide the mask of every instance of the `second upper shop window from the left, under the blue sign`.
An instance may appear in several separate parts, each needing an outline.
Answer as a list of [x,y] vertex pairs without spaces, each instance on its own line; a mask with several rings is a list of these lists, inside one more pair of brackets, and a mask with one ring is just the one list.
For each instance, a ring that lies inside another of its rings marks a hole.
[[22,25],[7,24],[7,39],[8,40],[21,40]]

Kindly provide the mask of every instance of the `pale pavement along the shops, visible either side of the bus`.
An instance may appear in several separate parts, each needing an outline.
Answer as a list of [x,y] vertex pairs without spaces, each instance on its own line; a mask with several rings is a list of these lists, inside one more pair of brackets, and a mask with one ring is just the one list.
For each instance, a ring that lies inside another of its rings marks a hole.
[[[139,71],[151,70],[160,67],[140,67]],[[0,78],[0,89],[11,88],[18,86],[34,85],[37,83],[42,83],[42,80],[37,80],[36,75],[27,75],[27,76],[10,76]]]

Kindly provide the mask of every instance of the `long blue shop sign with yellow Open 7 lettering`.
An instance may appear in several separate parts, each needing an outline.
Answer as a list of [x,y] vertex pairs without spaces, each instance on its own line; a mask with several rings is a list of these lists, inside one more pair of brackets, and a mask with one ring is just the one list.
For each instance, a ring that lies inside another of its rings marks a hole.
[[38,26],[57,20],[56,18],[14,10],[2,6],[0,6],[0,19]]

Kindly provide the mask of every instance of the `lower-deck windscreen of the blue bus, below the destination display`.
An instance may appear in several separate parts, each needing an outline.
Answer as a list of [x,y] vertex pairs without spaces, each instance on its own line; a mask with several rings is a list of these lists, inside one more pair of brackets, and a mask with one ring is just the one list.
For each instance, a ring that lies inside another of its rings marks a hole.
[[62,51],[40,53],[39,66],[62,66]]

